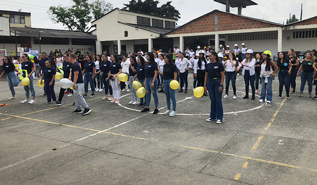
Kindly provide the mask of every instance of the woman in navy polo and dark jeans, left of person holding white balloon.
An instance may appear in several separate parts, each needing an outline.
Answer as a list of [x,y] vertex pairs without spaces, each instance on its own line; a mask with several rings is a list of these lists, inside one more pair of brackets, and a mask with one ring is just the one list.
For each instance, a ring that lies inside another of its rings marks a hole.
[[[43,75],[40,81],[40,84],[44,83],[44,88],[47,96],[47,102],[44,104],[56,103],[56,95],[54,92],[54,85],[55,85],[55,67],[53,67],[52,61],[47,60],[45,61],[45,67],[43,71]],[[44,79],[44,82],[42,81]]]

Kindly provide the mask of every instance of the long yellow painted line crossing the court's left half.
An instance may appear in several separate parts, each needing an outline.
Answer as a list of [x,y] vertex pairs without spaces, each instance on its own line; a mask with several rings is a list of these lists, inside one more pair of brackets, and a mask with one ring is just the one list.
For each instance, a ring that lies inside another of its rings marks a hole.
[[119,135],[119,136],[122,136],[122,137],[130,137],[130,138],[139,139],[139,140],[154,141],[154,140],[150,140],[150,139],[139,138],[139,137],[134,137],[134,136],[130,136],[130,135],[124,135],[124,134],[119,134],[119,133],[112,133],[112,132],[107,132],[107,131],[102,131],[102,130],[97,130],[97,129],[88,129],[88,128],[77,127],[77,126],[72,126],[72,125],[60,124],[60,123],[56,123],[56,122],[52,122],[52,121],[45,121],[45,120],[40,120],[40,119],[33,119],[33,118],[16,116],[16,115],[9,115],[9,114],[3,114],[3,115],[17,117],[17,118],[21,118],[21,119],[28,119],[28,120],[32,120],[32,121],[39,121],[39,122],[43,122],[43,123],[50,123],[50,124],[59,125],[59,126],[65,126],[65,127],[70,127],[70,128],[85,129],[85,130],[90,130],[90,131],[102,132],[102,133],[106,133],[106,134]]

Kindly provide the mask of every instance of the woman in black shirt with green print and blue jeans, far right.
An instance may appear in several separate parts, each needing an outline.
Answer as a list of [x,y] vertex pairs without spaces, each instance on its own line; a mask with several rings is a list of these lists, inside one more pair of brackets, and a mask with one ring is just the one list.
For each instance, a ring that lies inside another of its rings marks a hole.
[[313,64],[314,64],[314,56],[312,52],[307,52],[306,60],[303,60],[297,72],[297,76],[299,76],[299,73],[301,72],[301,70],[303,70],[303,72],[300,74],[301,83],[300,83],[299,97],[303,96],[306,81],[308,83],[308,97],[312,97],[312,91],[313,91],[312,84],[313,84],[313,79],[316,76],[316,70],[317,70]]

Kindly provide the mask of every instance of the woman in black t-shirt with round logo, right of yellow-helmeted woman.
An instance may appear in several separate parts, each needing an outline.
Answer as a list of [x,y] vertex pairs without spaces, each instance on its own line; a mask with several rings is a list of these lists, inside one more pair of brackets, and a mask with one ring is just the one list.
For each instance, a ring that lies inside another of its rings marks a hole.
[[277,59],[279,95],[282,98],[283,86],[285,86],[286,98],[290,98],[290,77],[292,71],[292,63],[288,60],[283,52],[279,52]]

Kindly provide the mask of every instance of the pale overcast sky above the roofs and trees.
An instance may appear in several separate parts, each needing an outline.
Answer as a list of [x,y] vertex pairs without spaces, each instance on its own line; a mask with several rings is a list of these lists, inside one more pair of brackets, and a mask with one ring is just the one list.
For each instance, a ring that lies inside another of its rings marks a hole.
[[[168,0],[159,0],[160,4],[166,3]],[[277,23],[286,23],[289,14],[295,14],[300,17],[300,4],[303,3],[303,19],[317,16],[317,1],[315,0],[253,0],[258,5],[249,6],[242,9],[242,15],[266,19]],[[71,5],[71,0],[0,0],[1,10],[31,12],[32,27],[34,28],[52,28],[65,29],[62,24],[54,24],[47,14],[49,6],[52,5]],[[129,0],[106,0],[113,3],[114,7],[123,7],[123,3]],[[225,11],[225,5],[214,2],[213,0],[173,0],[172,5],[180,12],[178,25],[195,19],[201,15],[211,12],[215,9]],[[231,8],[232,13],[237,14],[237,8]]]

